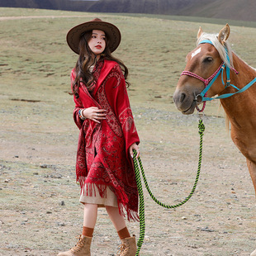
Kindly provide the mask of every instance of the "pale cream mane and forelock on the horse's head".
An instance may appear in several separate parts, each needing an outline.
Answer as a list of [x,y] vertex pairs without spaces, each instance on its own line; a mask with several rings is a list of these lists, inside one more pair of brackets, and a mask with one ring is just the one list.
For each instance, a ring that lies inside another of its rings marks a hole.
[[[230,44],[228,41],[225,42],[225,45],[221,45],[220,41],[218,40],[218,35],[216,34],[207,34],[207,33],[202,33],[201,36],[198,38],[197,40],[197,45],[199,45],[199,43],[202,40],[211,40],[212,45],[215,46],[216,50],[219,52],[220,54],[220,58],[224,61],[224,63],[228,66],[233,68],[233,58],[232,58],[232,50],[230,47]],[[226,58],[226,50],[228,52],[228,56],[230,58],[230,62],[228,61],[228,59]]]

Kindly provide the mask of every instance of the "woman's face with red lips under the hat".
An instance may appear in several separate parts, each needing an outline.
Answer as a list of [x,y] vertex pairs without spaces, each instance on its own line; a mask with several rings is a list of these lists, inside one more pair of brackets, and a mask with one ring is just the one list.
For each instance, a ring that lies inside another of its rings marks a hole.
[[94,55],[100,55],[106,47],[106,36],[104,31],[92,31],[92,37],[88,40],[88,45]]

